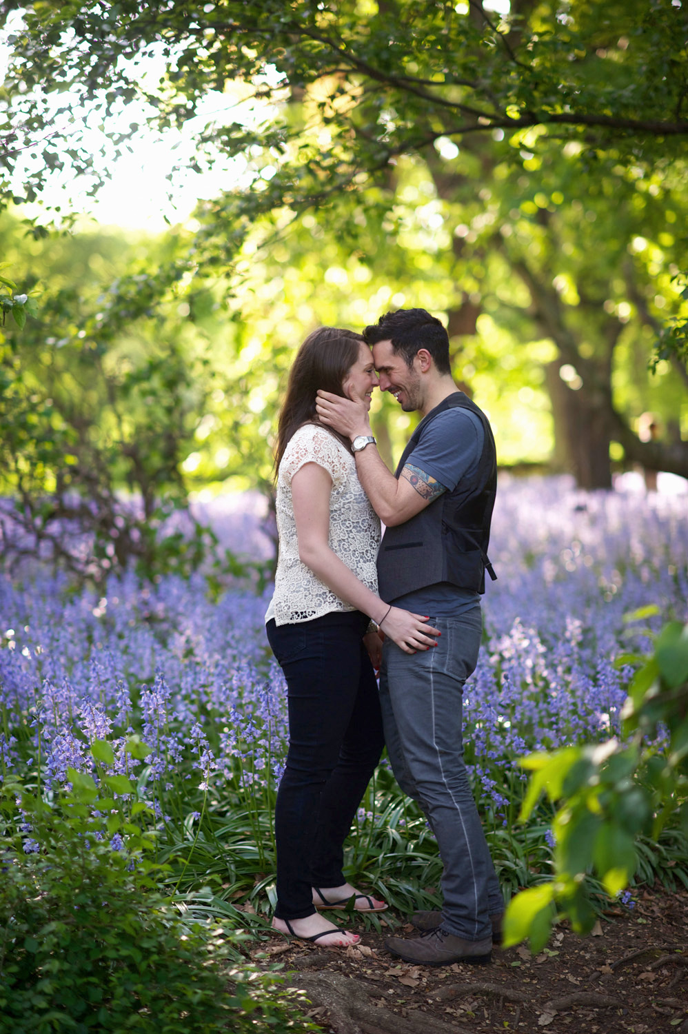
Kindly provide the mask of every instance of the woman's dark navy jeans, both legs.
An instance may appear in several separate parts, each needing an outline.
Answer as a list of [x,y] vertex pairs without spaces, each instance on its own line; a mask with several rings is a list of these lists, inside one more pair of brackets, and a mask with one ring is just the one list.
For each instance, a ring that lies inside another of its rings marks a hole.
[[289,753],[275,809],[279,919],[312,915],[311,887],[346,882],[343,842],[384,747],[362,642],[367,624],[358,610],[267,624],[289,698]]

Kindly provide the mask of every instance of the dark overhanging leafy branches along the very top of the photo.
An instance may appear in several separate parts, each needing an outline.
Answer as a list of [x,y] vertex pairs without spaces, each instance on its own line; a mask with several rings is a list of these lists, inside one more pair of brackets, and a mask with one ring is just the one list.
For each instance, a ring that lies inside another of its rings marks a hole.
[[[443,138],[501,140],[509,151],[514,133],[537,128],[558,147],[575,141],[591,156],[652,166],[658,148],[661,161],[686,153],[688,23],[678,0],[514,0],[508,16],[477,0],[4,6],[22,12],[5,131],[17,148],[40,149],[37,184],[65,158],[92,169],[81,127],[60,128],[73,119],[74,95],[101,113],[143,99],[164,128],[237,82],[256,102],[255,120],[209,122],[199,141],[207,156],[250,147],[259,179],[271,159],[261,208],[360,192],[384,183],[396,156]],[[138,72],[153,54],[164,70],[149,85]],[[49,104],[67,90],[63,104]],[[298,113],[285,103],[304,97]]]

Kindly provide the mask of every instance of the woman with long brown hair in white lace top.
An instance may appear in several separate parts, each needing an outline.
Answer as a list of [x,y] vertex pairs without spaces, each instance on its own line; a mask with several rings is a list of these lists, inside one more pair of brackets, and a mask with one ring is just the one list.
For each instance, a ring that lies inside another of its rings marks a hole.
[[[367,399],[378,377],[360,334],[322,327],[290,373],[275,448],[279,558],[266,614],[287,679],[290,746],[277,793],[273,927],[321,945],[355,944],[317,909],[387,906],[346,882],[343,841],[384,746],[372,662],[381,637],[407,652],[436,630],[377,595],[380,521],[356,477],[348,438],[316,415],[319,388]],[[369,620],[372,619],[372,621]]]

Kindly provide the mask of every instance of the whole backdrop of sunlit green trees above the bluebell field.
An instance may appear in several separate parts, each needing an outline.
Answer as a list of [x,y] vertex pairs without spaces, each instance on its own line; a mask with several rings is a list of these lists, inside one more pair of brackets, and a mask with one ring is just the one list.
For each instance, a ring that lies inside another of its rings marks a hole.
[[[3,253],[44,292],[4,345],[5,490],[125,486],[149,514],[189,488],[269,490],[294,348],[405,305],[447,323],[503,463],[586,488],[612,461],[687,477],[686,11],[499,6],[8,0],[2,196],[20,215],[56,178],[67,209],[76,183],[96,191],[144,123],[188,123],[191,166],[232,176],[158,240],[41,240],[35,212],[23,238],[5,216]],[[391,460],[410,420],[376,406]]]

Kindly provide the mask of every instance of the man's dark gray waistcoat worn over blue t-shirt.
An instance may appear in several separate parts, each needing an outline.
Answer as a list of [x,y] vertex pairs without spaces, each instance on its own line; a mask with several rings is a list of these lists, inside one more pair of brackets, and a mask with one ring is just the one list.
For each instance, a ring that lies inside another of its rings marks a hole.
[[459,588],[485,591],[485,569],[497,578],[487,558],[489,524],[497,491],[495,438],[484,413],[463,392],[456,392],[431,409],[414,431],[395,472],[403,465],[428,424],[455,407],[471,409],[480,418],[484,443],[480,462],[470,482],[463,479],[453,491],[443,492],[396,527],[388,527],[378,556],[379,591],[383,600],[451,582]]

